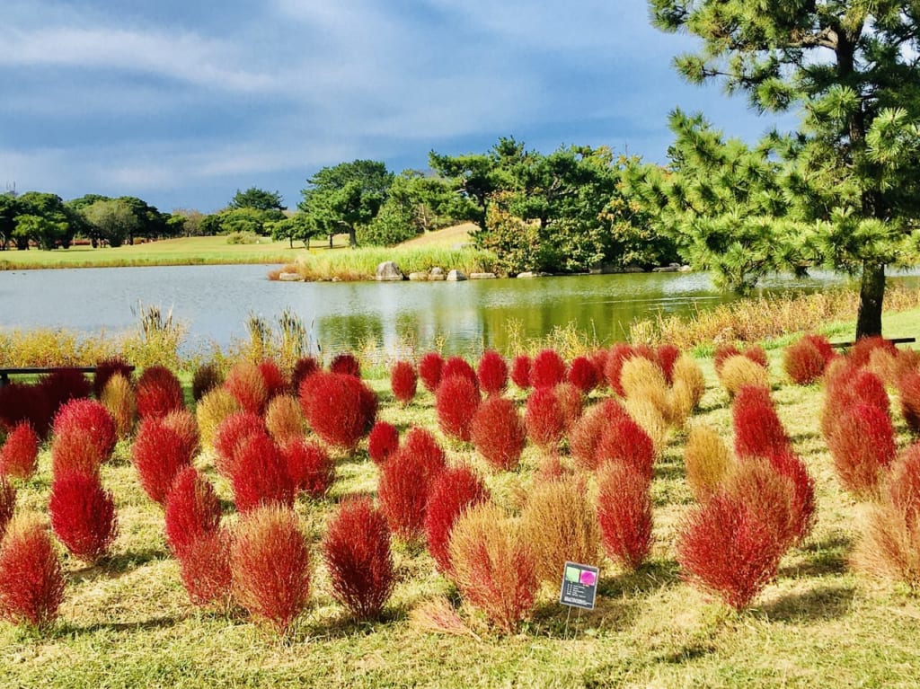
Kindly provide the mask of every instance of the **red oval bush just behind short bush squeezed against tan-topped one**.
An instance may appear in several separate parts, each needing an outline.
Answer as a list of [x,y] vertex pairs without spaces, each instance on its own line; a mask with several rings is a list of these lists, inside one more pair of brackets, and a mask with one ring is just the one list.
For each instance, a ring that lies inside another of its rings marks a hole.
[[221,523],[221,501],[211,482],[193,467],[182,469],[166,505],[167,544],[180,557],[200,538],[215,534]]

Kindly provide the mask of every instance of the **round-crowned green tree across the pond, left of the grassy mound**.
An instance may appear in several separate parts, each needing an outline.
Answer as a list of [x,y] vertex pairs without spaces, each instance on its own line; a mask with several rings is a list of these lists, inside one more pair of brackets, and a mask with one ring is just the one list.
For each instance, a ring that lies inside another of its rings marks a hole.
[[329,236],[330,245],[332,235],[347,232],[355,247],[358,228],[374,220],[392,183],[393,174],[374,160],[323,167],[307,179],[298,208],[317,233]]

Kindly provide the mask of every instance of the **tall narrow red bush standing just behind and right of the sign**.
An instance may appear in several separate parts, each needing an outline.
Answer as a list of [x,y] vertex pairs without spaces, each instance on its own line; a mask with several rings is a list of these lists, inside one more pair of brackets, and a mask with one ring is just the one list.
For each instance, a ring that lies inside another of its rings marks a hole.
[[628,465],[605,465],[598,478],[597,521],[607,557],[638,569],[651,549],[648,478]]

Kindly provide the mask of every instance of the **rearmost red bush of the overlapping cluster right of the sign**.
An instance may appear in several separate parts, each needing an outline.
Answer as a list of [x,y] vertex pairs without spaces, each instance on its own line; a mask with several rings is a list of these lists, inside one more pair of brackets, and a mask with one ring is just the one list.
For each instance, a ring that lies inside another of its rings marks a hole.
[[737,456],[767,457],[791,449],[767,388],[743,385],[731,403],[731,418]]

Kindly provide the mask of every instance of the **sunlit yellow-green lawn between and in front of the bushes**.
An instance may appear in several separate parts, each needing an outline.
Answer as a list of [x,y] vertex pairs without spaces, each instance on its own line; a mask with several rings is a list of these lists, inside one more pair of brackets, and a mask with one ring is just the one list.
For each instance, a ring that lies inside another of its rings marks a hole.
[[[916,333],[920,309],[886,316],[886,328],[895,325],[900,333]],[[310,607],[291,637],[278,639],[243,614],[197,610],[167,554],[162,511],[144,497],[122,443],[102,476],[121,520],[113,557],[96,568],[64,558],[67,600],[45,636],[0,624],[0,686],[914,686],[918,600],[899,584],[849,567],[865,506],[845,495],[834,477],[818,431],[822,391],[788,385],[782,351],[769,355],[778,414],[815,478],[819,511],[814,532],[788,554],[777,580],[748,612],[730,613],[680,580],[674,538],[692,500],[683,433],[673,435],[656,465],[650,563],[635,574],[598,563],[602,581],[592,613],[569,617],[556,603],[558,591],[543,591],[532,619],[513,636],[493,633],[478,614],[462,610],[478,639],[422,632],[408,622],[416,605],[434,595],[454,597],[454,591],[431,557],[402,545],[396,548],[399,583],[380,622],[356,624],[332,601],[316,548]],[[692,422],[710,424],[728,439],[728,396],[711,360],[700,363],[707,392]],[[431,395],[420,393],[402,408],[383,373],[367,373],[376,376],[370,384],[381,398],[380,419],[403,431],[415,424],[436,429]],[[909,438],[897,419],[904,445]],[[444,446],[451,461],[475,465],[509,508],[526,493],[538,460],[528,448],[520,471],[493,474],[469,447]],[[202,454],[197,465],[229,498],[210,455]],[[297,504],[315,544],[336,501],[376,485],[377,469],[363,450],[339,456],[338,471],[328,500]],[[45,452],[39,475],[19,486],[18,509],[43,511],[49,481]]]

